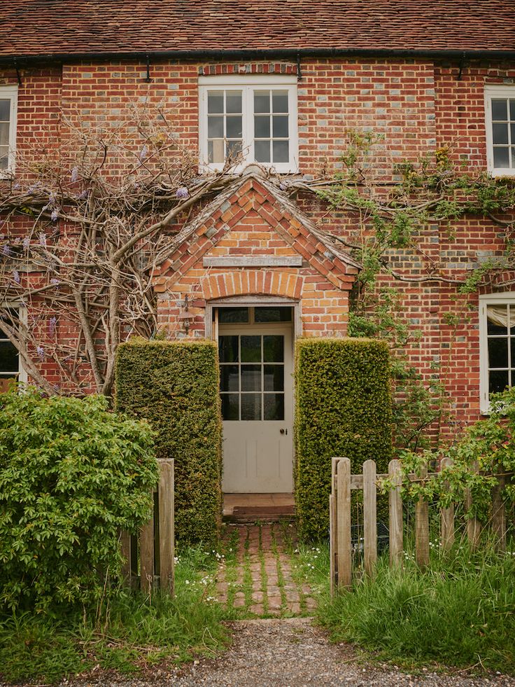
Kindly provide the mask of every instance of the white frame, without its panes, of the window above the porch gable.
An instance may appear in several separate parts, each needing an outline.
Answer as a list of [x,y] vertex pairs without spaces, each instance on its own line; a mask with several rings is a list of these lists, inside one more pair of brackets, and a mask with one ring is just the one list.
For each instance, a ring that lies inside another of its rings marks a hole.
[[278,74],[253,74],[248,76],[199,76],[199,155],[201,172],[219,172],[223,162],[207,162],[207,92],[208,90],[241,90],[242,91],[242,124],[244,165],[238,165],[233,171],[241,171],[254,159],[254,104],[255,90],[288,91],[288,162],[255,162],[256,165],[270,167],[280,174],[298,172],[299,138],[297,118],[297,76]]

